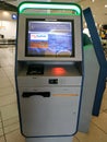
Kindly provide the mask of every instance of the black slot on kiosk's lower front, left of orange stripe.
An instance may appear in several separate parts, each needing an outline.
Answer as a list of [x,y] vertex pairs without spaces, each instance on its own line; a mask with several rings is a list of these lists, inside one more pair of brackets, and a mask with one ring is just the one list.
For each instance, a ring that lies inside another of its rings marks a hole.
[[31,96],[43,96],[43,97],[50,97],[50,92],[23,92],[23,97],[31,97]]

